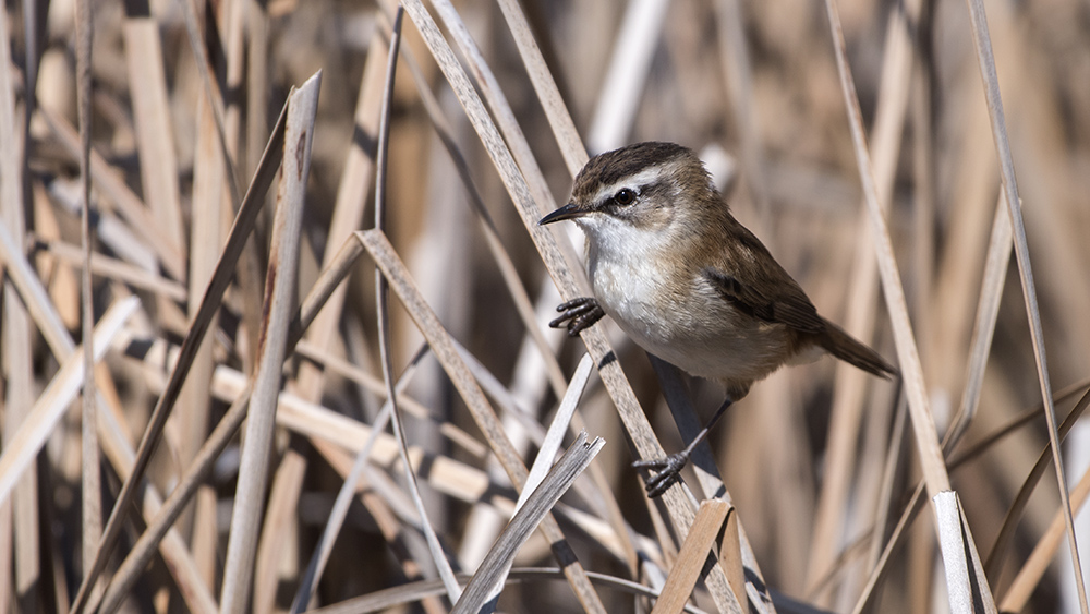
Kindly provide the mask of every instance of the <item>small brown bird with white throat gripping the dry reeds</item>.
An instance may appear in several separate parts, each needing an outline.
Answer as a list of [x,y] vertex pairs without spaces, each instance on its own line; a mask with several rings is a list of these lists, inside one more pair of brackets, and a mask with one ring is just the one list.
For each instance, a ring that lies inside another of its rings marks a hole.
[[879,376],[896,370],[818,315],[802,288],[731,215],[700,158],[674,143],[638,143],[591,158],[571,202],[538,224],[576,221],[586,236],[594,297],[568,301],[549,326],[576,336],[609,315],[644,350],[716,380],[726,400],[692,443],[664,459],[647,494],[679,480],[693,448],[750,386],[783,364],[827,352]]

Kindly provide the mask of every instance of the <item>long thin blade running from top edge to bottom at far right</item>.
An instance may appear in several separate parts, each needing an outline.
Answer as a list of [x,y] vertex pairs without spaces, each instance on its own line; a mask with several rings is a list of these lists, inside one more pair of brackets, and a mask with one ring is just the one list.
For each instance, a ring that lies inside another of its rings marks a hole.
[[977,50],[977,61],[980,76],[984,82],[984,97],[988,99],[988,115],[992,120],[992,136],[995,149],[1000,156],[1003,192],[1007,201],[1007,213],[1010,216],[1010,229],[1018,261],[1018,273],[1021,278],[1022,300],[1026,303],[1026,315],[1029,318],[1030,338],[1033,342],[1033,358],[1037,362],[1037,376],[1041,384],[1041,398],[1044,400],[1044,417],[1049,422],[1049,442],[1052,443],[1052,460],[1056,470],[1056,483],[1059,487],[1059,499],[1063,503],[1067,539],[1070,545],[1071,566],[1075,573],[1075,587],[1078,590],[1079,607],[1082,614],[1090,612],[1087,603],[1086,582],[1082,577],[1082,563],[1079,559],[1079,544],[1075,534],[1075,517],[1067,493],[1067,479],[1064,475],[1064,462],[1059,450],[1059,435],[1056,429],[1056,408],[1052,404],[1052,383],[1049,381],[1049,368],[1045,363],[1044,332],[1041,329],[1041,310],[1037,303],[1037,287],[1033,282],[1033,268],[1029,261],[1029,243],[1026,239],[1026,225],[1021,216],[1021,198],[1018,196],[1018,182],[1015,178],[1015,162],[1010,156],[1010,143],[1007,140],[1007,124],[1003,113],[1003,98],[1000,95],[1000,77],[995,70],[995,57],[992,55],[992,38],[988,32],[988,19],[984,15],[984,4],[980,0],[966,0],[969,8],[969,20],[972,24],[972,39]]

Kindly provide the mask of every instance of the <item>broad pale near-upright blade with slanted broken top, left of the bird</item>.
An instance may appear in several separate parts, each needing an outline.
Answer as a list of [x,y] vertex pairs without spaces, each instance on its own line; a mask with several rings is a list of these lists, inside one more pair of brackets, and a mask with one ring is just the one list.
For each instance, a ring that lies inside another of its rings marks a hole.
[[271,454],[280,376],[288,344],[291,303],[295,293],[299,243],[302,232],[306,180],[311,171],[311,144],[318,108],[318,72],[288,99],[284,130],[283,172],[277,190],[278,203],[272,230],[271,257],[265,278],[265,304],[257,341],[257,375],[254,381],[253,411],[246,422],[246,445],[242,448],[239,485],[231,516],[231,537],[223,570],[220,612],[243,612],[250,601],[253,557],[264,509],[267,472]]

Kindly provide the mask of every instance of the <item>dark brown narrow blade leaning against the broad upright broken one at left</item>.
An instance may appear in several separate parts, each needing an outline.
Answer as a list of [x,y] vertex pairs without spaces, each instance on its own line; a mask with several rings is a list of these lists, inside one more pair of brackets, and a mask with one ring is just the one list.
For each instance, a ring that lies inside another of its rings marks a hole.
[[[189,368],[192,364],[192,361],[196,358],[197,350],[201,347],[204,335],[208,332],[208,326],[211,324],[213,316],[219,309],[220,301],[223,298],[223,292],[227,290],[227,286],[230,282],[231,277],[234,275],[234,265],[242,253],[246,238],[254,228],[254,222],[257,219],[257,213],[264,205],[265,193],[268,191],[269,185],[272,184],[276,171],[280,167],[286,115],[287,108],[284,108],[284,112],[281,112],[280,119],[277,121],[277,125],[272,130],[269,142],[265,147],[265,155],[262,157],[262,162],[250,184],[250,190],[246,191],[246,196],[243,198],[242,205],[239,207],[239,214],[235,217],[234,226],[231,228],[230,237],[228,238],[227,244],[223,246],[223,251],[220,254],[219,263],[216,265],[216,273],[208,282],[208,288],[205,290],[205,294],[201,299],[201,308],[193,317],[193,324],[191,325],[185,339],[182,341],[178,364],[174,366],[173,371],[171,371],[170,380],[168,381],[162,395],[159,396],[159,400],[156,402],[155,409],[152,411],[147,429],[144,431],[140,446],[136,448],[136,460],[133,462],[133,473],[121,486],[121,492],[118,494],[117,503],[114,504],[113,510],[110,513],[110,518],[107,520],[106,528],[102,531],[102,540],[98,546],[95,562],[89,569],[85,570],[83,583],[80,586],[80,591],[77,592],[71,609],[71,612],[73,613],[82,611],[82,607],[86,603],[86,599],[88,597],[87,589],[93,586],[95,581],[97,581],[98,575],[102,571],[106,558],[109,556],[110,550],[113,547],[113,542],[121,530],[121,518],[125,513],[128,513],[129,506],[133,502],[136,484],[138,484],[144,477],[144,471],[147,469],[147,463],[152,459],[152,453],[158,443],[159,436],[162,434],[162,429],[167,423],[167,418],[169,417],[171,409],[173,409],[173,404],[178,399],[178,395],[181,393],[185,375],[189,373]],[[0,232],[0,239],[2,238],[3,233]],[[0,244],[2,244],[2,241],[0,241]]]

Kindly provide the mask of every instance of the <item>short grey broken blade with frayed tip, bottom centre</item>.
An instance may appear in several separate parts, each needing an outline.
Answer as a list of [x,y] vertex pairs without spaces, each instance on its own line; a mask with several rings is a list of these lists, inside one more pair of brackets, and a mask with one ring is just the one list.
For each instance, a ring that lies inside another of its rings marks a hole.
[[516,553],[605,444],[602,437],[595,437],[588,443],[586,433],[580,433],[576,437],[568,452],[553,466],[541,484],[534,487],[533,494],[526,498],[526,504],[511,518],[510,523],[496,540],[481,567],[467,585],[465,592],[455,603],[451,611],[453,614],[474,612],[487,614],[495,611],[496,601],[499,599],[499,592]]

